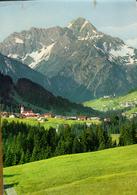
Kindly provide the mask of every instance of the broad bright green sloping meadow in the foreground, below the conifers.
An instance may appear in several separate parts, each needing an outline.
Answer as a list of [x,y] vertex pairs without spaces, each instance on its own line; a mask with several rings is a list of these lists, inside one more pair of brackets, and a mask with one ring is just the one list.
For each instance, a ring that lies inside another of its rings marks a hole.
[[19,195],[136,195],[137,145],[4,169]]

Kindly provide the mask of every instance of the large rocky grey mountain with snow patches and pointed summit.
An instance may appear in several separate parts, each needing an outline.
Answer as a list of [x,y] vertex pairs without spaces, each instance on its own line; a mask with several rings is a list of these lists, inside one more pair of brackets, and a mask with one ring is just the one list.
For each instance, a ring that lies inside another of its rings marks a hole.
[[137,87],[137,49],[84,18],[64,28],[13,33],[0,44],[0,52],[45,75],[48,90],[71,101],[121,95]]

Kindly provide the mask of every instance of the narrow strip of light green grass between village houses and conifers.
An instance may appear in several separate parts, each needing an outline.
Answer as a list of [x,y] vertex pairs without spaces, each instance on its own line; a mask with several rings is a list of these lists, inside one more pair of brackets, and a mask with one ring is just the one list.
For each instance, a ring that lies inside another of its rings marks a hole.
[[[78,121],[78,120],[65,120],[65,119],[56,119],[56,118],[48,118],[48,121],[45,122],[39,122],[37,119],[19,119],[19,118],[6,118],[9,122],[15,121],[15,122],[23,122],[30,125],[42,125],[45,128],[49,129],[50,127],[56,128],[58,125],[61,124],[82,124],[82,123],[93,123],[93,124],[100,124],[100,121],[97,120],[87,120],[87,121]],[[4,120],[4,119],[3,119]]]

